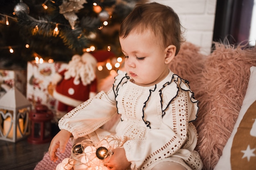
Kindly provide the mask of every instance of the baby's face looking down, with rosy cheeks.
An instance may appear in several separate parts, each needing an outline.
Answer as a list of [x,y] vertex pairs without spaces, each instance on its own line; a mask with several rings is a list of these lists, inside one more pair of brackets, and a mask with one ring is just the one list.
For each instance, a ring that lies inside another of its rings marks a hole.
[[133,31],[119,40],[126,56],[126,72],[137,85],[155,85],[166,77],[169,72],[165,63],[166,50],[152,31]]

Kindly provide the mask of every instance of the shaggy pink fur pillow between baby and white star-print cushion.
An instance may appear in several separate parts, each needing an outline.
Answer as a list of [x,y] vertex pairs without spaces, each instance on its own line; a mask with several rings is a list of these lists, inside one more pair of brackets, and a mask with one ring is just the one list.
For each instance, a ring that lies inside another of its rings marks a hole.
[[215,46],[205,59],[202,72],[191,75],[190,82],[199,100],[194,124],[198,130],[197,150],[205,170],[212,170],[222,155],[245,97],[249,69],[256,66],[256,48],[220,43]]

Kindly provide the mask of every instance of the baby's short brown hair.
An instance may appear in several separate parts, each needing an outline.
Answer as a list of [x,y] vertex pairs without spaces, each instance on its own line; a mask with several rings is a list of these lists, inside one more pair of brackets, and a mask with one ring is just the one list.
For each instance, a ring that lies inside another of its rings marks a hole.
[[155,36],[162,40],[162,45],[176,46],[176,53],[184,41],[180,19],[171,7],[156,2],[137,4],[135,9],[121,24],[119,36],[126,38],[132,31],[142,33],[146,29],[153,31]]

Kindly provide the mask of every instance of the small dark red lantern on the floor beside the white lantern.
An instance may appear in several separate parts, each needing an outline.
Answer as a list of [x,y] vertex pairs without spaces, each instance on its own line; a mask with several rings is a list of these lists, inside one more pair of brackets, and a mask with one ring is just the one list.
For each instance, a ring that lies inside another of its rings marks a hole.
[[32,144],[49,142],[52,139],[52,111],[45,105],[36,105],[35,109],[29,113],[29,118],[31,121],[31,134],[28,142]]

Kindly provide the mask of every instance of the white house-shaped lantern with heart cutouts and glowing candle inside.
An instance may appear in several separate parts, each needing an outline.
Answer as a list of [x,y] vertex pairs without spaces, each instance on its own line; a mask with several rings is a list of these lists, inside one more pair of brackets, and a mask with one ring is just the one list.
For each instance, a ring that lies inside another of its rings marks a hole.
[[0,140],[17,142],[30,133],[31,104],[16,87],[0,98]]

